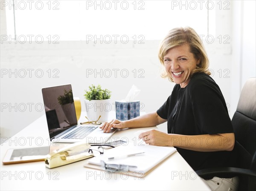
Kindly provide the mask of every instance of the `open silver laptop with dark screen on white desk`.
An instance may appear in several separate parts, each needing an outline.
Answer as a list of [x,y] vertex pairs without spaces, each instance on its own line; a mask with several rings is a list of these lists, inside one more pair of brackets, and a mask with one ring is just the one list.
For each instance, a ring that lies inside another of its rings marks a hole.
[[99,125],[78,125],[73,92],[70,84],[42,88],[44,108],[47,118],[50,140],[59,143],[102,144],[116,131],[104,133]]

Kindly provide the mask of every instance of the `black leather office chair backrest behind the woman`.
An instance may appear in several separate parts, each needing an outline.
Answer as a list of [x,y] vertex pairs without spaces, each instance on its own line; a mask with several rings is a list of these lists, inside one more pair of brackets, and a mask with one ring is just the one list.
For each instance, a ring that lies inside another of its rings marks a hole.
[[[244,84],[232,125],[238,148],[239,167],[256,170],[256,78]],[[242,182],[241,182],[242,183]],[[244,182],[247,186],[247,180]],[[240,187],[240,186],[239,186]],[[251,187],[249,185],[249,187]],[[243,186],[240,187],[244,189]],[[249,188],[250,189],[250,188]]]

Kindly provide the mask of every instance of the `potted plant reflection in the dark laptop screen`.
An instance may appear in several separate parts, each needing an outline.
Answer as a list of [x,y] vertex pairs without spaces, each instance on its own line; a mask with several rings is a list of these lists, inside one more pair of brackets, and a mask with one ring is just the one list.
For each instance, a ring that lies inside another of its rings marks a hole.
[[75,112],[73,102],[73,93],[71,89],[69,91],[64,90],[64,94],[58,97],[58,103],[61,105],[69,125],[76,123],[76,118],[72,115],[72,113]]

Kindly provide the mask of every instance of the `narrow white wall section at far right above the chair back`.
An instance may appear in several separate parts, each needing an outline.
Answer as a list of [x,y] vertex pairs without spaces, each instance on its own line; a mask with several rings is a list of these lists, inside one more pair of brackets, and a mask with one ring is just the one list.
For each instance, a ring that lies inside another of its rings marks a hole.
[[246,80],[256,77],[255,1],[232,1],[231,103],[238,103]]

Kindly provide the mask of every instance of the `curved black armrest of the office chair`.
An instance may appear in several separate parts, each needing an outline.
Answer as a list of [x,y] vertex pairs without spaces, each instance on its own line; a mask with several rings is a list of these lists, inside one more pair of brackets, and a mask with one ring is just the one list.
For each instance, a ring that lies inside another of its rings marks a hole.
[[247,175],[250,177],[256,177],[256,171],[244,168],[234,168],[234,167],[223,167],[223,168],[207,168],[199,171],[195,171],[200,177],[205,179],[211,179],[216,176],[216,174],[221,174],[224,176],[234,177],[237,175]]

